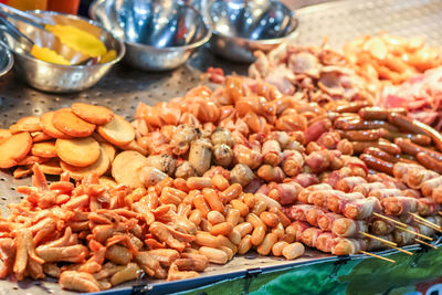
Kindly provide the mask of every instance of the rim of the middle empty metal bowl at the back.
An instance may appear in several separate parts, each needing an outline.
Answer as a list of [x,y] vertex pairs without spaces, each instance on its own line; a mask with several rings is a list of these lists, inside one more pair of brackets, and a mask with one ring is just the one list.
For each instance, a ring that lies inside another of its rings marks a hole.
[[[94,0],[94,1],[92,2],[91,7],[90,7],[90,11],[88,11],[90,17],[91,17],[95,22],[98,22],[98,21],[95,19],[95,12],[94,12],[94,11],[96,11],[96,7],[97,7],[99,3],[105,2],[105,1],[106,1],[106,0]],[[206,18],[204,18],[198,10],[196,10],[193,7],[188,6],[188,4],[180,4],[180,3],[179,3],[179,6],[181,6],[181,7],[187,7],[187,8],[191,9],[191,10],[193,10],[193,11],[197,12],[197,14],[201,18],[202,23],[204,24],[204,27],[206,27],[206,29],[208,30],[208,32],[207,32],[207,34],[204,35],[204,38],[202,38],[200,41],[197,41],[197,42],[194,42],[194,43],[191,43],[191,44],[188,44],[188,45],[183,45],[183,46],[167,46],[167,48],[156,48],[156,46],[152,46],[152,45],[147,45],[147,44],[137,43],[137,42],[130,42],[130,41],[126,41],[126,40],[123,40],[123,42],[124,42],[125,44],[127,44],[127,45],[135,46],[135,48],[149,49],[149,50],[156,50],[156,51],[167,51],[167,52],[172,52],[172,51],[178,51],[178,50],[179,50],[179,51],[186,51],[186,50],[197,49],[197,48],[199,48],[199,46],[202,46],[202,45],[203,45],[204,43],[207,43],[207,42],[210,40],[210,38],[212,36],[213,29],[212,29],[211,23],[208,22],[208,21],[206,20]],[[118,39],[118,40],[120,40],[120,39]]]

